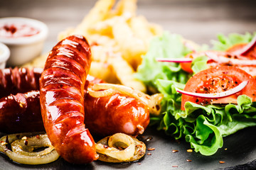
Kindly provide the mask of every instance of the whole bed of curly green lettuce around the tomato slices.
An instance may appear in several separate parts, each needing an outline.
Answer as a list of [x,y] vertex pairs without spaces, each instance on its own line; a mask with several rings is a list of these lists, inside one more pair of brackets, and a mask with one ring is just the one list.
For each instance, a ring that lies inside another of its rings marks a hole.
[[[213,42],[213,49],[226,50],[236,43],[250,42],[252,34],[218,35],[218,39],[218,42]],[[176,140],[184,138],[196,152],[212,155],[223,147],[223,137],[256,125],[256,103],[242,95],[238,97],[237,104],[201,106],[186,102],[185,111],[181,111],[181,94],[175,87],[183,89],[192,75],[183,72],[179,64],[156,62],[156,57],[178,58],[188,52],[191,50],[183,44],[181,35],[164,33],[152,40],[136,77],[164,94],[161,115],[151,115],[151,125],[157,124],[159,130],[164,130]],[[206,62],[205,56],[193,60],[193,72],[206,69]]]

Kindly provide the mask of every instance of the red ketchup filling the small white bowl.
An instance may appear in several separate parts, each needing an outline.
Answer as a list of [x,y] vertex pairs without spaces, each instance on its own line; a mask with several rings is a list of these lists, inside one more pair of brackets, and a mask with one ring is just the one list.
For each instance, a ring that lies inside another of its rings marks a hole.
[[29,37],[39,32],[37,28],[26,23],[4,23],[0,25],[0,37],[3,38]]

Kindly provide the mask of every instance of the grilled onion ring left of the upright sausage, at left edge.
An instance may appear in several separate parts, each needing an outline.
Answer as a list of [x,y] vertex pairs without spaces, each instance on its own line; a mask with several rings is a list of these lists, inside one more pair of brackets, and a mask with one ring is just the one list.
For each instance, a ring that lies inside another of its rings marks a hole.
[[[1,137],[0,152],[4,152],[14,162],[20,164],[48,164],[58,159],[59,155],[53,145],[50,144],[47,135],[35,135],[35,133],[17,133]],[[11,145],[9,149],[6,145]],[[34,149],[46,147],[40,152]]]

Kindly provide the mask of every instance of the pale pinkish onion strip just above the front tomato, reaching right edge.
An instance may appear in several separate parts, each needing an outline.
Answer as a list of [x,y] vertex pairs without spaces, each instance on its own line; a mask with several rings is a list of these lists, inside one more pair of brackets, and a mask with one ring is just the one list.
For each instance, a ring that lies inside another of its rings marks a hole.
[[256,60],[233,59],[225,56],[217,55],[214,52],[206,52],[206,56],[215,62],[229,63],[233,65],[256,65]]

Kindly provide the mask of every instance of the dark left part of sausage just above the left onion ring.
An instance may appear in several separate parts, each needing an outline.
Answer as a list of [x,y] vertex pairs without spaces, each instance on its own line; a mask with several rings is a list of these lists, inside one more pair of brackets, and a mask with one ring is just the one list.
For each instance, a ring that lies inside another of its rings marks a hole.
[[40,111],[39,91],[9,95],[0,99],[0,131],[41,132],[44,131]]

